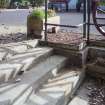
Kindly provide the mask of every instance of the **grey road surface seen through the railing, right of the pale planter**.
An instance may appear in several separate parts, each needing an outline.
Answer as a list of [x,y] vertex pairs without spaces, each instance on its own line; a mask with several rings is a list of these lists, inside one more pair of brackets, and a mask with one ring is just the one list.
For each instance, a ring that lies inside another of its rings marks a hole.
[[[70,24],[70,25],[78,25],[83,23],[83,13],[59,13],[61,17],[61,24]],[[92,22],[92,17],[91,17]],[[82,33],[82,27],[78,29],[71,29],[73,32]],[[94,26],[91,26],[91,34],[98,34],[99,32],[96,30]]]

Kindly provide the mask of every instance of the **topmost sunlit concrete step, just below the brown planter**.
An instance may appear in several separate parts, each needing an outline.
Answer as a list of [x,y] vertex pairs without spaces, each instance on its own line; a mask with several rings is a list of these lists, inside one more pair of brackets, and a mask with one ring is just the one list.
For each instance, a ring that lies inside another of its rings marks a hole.
[[28,40],[18,43],[9,43],[0,45],[0,61],[5,59],[5,55],[12,56],[22,53],[38,46],[38,40]]

